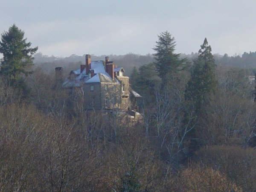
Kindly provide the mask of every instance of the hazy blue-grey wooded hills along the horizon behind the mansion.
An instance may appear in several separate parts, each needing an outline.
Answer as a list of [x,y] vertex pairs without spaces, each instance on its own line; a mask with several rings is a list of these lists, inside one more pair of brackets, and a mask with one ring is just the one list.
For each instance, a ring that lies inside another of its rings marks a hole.
[[[64,73],[67,75],[71,70],[78,69],[80,64],[85,63],[84,55],[70,55],[69,57],[55,57],[47,56],[42,53],[37,53],[35,56],[35,67],[41,67],[47,73],[54,73],[55,67],[63,67]],[[139,68],[144,64],[154,62],[154,57],[151,54],[138,55],[134,53],[128,53],[126,55],[91,55],[92,60],[105,60],[105,56],[109,56],[111,61],[114,61],[118,67],[125,69],[126,75],[130,75],[134,66]],[[191,63],[198,57],[197,53],[181,54],[181,58],[187,58]],[[256,52],[244,52],[243,55],[228,56],[215,54],[215,63],[217,65],[223,65],[228,67],[239,68],[256,68]]]

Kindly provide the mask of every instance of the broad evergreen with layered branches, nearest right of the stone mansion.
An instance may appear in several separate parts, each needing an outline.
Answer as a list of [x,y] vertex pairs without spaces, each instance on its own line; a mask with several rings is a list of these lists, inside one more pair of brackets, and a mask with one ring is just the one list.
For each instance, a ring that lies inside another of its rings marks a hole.
[[186,59],[180,59],[180,53],[174,53],[175,46],[175,38],[166,31],[161,32],[160,35],[158,35],[158,41],[153,48],[156,51],[156,53],[153,54],[156,60],[156,70],[163,80],[163,83],[177,71],[183,70],[186,66]]

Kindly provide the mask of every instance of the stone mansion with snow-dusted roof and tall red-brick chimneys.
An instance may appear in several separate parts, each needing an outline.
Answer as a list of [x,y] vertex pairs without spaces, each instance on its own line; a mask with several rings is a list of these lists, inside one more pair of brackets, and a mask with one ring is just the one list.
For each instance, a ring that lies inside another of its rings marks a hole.
[[[55,69],[56,79],[61,71],[60,67]],[[124,73],[109,57],[105,61],[91,61],[90,55],[86,55],[85,64],[72,70],[62,87],[70,93],[82,93],[86,110],[140,111],[142,96],[131,89],[129,77]]]

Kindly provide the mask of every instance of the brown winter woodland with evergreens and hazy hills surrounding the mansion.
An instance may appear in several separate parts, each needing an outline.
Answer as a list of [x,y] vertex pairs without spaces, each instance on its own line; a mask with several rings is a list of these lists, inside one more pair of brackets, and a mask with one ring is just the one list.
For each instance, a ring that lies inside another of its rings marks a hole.
[[[0,40],[0,191],[255,192],[256,52],[175,52],[161,32],[153,55],[109,55],[143,96],[143,123],[88,112],[55,81],[84,63],[57,58],[12,25]],[[92,60],[105,55],[92,55]],[[70,107],[72,106],[72,108]]]

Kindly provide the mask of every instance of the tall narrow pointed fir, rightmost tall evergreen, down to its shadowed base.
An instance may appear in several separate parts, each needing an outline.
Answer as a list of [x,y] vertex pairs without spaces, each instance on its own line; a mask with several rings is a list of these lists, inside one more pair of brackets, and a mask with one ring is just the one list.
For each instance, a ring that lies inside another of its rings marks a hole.
[[[210,96],[215,92],[217,81],[215,79],[215,61],[212,48],[208,45],[207,38],[198,51],[198,58],[192,67],[191,79],[185,90],[186,111],[184,115],[184,126],[192,128],[186,135],[189,154],[200,147],[198,141],[198,121],[204,118],[204,107],[207,106]],[[184,133],[181,133],[184,134]]]

